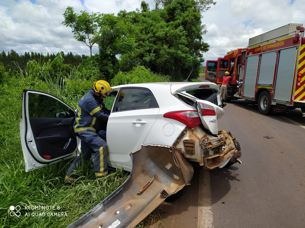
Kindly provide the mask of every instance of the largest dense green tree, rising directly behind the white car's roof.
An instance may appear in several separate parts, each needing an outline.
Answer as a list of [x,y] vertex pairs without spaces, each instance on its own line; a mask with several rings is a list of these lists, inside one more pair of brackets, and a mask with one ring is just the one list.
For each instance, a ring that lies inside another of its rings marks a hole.
[[[131,19],[136,50],[120,57],[122,68],[130,70],[143,65],[179,81],[193,70],[191,78],[198,77],[203,52],[209,47],[202,39],[206,29],[201,25],[201,12],[213,3],[210,0],[159,0],[156,9],[149,11],[142,2],[141,11],[133,12]],[[127,19],[131,14],[121,16]]]

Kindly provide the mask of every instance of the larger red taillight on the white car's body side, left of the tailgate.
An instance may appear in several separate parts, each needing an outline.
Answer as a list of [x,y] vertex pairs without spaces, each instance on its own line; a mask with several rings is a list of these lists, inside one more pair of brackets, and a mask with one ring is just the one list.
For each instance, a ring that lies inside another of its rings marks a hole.
[[201,123],[198,112],[194,110],[167,112],[163,115],[163,117],[177,120],[189,128],[196,127]]

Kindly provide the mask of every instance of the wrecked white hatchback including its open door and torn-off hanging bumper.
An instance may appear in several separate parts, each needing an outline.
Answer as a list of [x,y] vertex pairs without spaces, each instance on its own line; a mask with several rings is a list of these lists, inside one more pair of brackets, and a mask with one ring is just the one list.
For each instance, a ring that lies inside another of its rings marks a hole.
[[[106,131],[109,165],[131,175],[69,227],[133,227],[190,184],[190,161],[208,170],[241,163],[236,138],[218,129],[224,109],[216,84],[162,82],[112,88],[115,100]],[[27,171],[75,156],[74,118],[74,109],[60,99],[23,91],[20,137]]]

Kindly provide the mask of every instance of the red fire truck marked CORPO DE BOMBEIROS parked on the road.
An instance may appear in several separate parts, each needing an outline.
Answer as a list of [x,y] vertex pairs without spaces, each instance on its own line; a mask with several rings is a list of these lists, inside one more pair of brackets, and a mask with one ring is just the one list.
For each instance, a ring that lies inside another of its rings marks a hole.
[[287,24],[249,39],[248,47],[206,61],[205,79],[231,80],[225,99],[247,99],[269,115],[300,108],[305,116],[305,37],[303,24]]

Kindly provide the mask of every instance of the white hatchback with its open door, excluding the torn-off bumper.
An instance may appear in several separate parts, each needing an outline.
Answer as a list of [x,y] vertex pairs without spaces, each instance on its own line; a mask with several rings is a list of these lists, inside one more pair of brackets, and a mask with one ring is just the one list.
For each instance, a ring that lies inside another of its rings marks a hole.
[[[233,151],[234,146],[227,145],[230,142],[224,142],[218,131],[217,121],[224,109],[219,106],[216,84],[168,82],[112,88],[116,99],[107,123],[112,167],[131,171],[130,154],[140,150],[142,144],[173,147],[205,169],[239,162],[240,148]],[[124,98],[119,99],[123,94]],[[74,109],[59,98],[23,91],[20,137],[26,171],[75,156],[78,143],[72,128],[74,118]],[[227,147],[229,153],[223,153]]]

